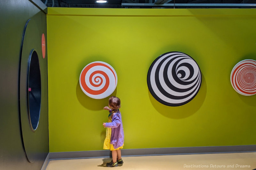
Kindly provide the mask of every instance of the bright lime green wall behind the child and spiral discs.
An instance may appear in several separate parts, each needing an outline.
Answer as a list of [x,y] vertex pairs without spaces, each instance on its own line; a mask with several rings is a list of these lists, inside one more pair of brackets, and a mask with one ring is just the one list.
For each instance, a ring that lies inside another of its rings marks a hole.
[[[79,86],[88,63],[109,63],[118,76],[124,149],[256,144],[256,95],[242,96],[230,73],[256,60],[256,9],[48,8],[50,152],[102,150],[108,98],[87,97]],[[190,55],[202,85],[186,105],[157,102],[147,86],[161,54]]]

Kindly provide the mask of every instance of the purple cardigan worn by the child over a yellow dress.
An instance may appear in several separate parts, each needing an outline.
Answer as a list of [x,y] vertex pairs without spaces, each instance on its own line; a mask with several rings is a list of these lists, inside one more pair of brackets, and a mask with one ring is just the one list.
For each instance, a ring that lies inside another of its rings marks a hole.
[[[109,113],[112,110],[109,111]],[[122,116],[120,111],[112,117],[112,122],[106,123],[107,128],[111,128],[110,144],[113,144],[114,149],[123,146],[124,144],[124,129],[122,123]]]

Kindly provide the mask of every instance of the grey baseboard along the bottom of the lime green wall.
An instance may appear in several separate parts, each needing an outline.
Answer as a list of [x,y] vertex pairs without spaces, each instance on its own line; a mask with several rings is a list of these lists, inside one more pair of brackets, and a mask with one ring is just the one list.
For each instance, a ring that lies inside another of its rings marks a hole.
[[[122,157],[180,155],[180,154],[208,154],[208,153],[237,153],[237,152],[256,152],[256,145],[122,149]],[[109,150],[78,151],[78,152],[50,152],[48,156],[49,156],[49,160],[108,158],[108,157],[111,157],[111,152]]]

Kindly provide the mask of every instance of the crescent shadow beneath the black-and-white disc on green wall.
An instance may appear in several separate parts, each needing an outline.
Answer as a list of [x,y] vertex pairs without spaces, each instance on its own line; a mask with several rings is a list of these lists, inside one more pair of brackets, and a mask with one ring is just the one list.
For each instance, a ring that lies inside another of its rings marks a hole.
[[172,119],[182,119],[182,118],[186,118],[188,116],[193,115],[200,109],[200,107],[204,103],[206,92],[207,92],[207,85],[206,85],[204,75],[202,74],[202,84],[199,92],[197,93],[194,99],[192,99],[190,102],[188,102],[185,105],[176,106],[176,107],[163,105],[151,95],[149,90],[148,90],[148,96],[152,105],[156,108],[156,110],[160,114]]

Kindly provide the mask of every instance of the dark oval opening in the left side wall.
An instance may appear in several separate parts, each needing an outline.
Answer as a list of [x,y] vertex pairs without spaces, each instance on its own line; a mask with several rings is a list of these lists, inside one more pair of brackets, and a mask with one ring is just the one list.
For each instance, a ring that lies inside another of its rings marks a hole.
[[41,74],[38,55],[32,49],[28,58],[28,117],[33,131],[37,129],[41,107]]

